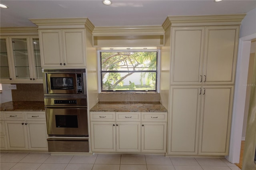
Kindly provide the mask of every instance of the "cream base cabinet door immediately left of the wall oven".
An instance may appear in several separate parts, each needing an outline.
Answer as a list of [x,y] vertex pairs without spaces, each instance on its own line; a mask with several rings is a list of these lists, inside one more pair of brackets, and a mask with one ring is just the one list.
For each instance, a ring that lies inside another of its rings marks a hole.
[[28,122],[28,149],[48,150],[46,122]]

